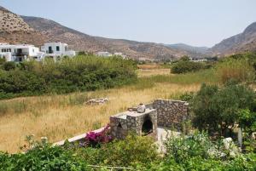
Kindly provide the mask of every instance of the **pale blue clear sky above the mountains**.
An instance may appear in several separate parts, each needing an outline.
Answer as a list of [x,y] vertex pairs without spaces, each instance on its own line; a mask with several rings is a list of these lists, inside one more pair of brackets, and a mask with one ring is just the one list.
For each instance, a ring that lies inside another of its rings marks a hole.
[[256,0],[1,0],[84,33],[211,47],[256,21]]

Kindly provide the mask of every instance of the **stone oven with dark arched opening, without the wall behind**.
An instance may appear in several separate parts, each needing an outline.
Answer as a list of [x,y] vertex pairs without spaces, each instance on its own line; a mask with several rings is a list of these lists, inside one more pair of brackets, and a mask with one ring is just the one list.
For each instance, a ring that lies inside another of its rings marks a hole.
[[157,113],[155,109],[147,108],[145,112],[125,111],[110,117],[110,132],[114,138],[124,139],[129,132],[143,136],[157,135]]

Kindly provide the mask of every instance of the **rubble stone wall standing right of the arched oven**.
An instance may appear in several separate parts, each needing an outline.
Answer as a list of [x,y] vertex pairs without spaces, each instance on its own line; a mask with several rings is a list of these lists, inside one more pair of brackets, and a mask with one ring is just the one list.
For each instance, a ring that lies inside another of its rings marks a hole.
[[154,100],[159,127],[181,130],[183,121],[189,118],[189,103],[180,100]]

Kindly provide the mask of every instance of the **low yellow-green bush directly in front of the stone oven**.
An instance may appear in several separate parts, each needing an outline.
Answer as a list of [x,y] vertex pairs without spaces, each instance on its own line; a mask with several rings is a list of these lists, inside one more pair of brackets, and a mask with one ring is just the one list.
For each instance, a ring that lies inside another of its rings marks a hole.
[[158,160],[154,140],[129,135],[125,140],[113,140],[101,148],[79,149],[79,155],[90,164],[129,167]]

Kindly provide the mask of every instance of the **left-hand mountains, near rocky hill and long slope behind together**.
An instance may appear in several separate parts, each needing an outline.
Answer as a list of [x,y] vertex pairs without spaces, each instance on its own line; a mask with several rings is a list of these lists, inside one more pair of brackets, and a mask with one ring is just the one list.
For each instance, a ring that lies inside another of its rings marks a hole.
[[131,58],[149,60],[177,58],[187,54],[186,51],[158,43],[93,37],[61,26],[53,20],[20,16],[3,7],[0,7],[0,14],[0,43],[31,43],[41,46],[45,42],[63,42],[78,51],[122,52]]

